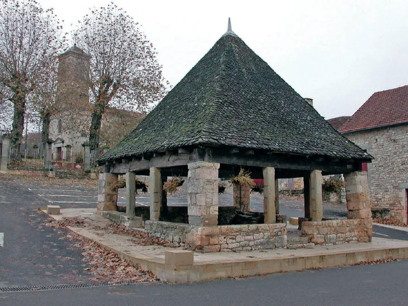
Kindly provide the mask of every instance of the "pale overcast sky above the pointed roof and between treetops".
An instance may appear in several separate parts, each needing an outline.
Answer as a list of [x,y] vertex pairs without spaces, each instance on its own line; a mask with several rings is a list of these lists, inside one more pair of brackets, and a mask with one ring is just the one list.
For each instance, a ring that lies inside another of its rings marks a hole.
[[[106,0],[38,0],[65,30]],[[172,86],[233,31],[326,119],[408,85],[408,1],[116,0],[156,47]]]

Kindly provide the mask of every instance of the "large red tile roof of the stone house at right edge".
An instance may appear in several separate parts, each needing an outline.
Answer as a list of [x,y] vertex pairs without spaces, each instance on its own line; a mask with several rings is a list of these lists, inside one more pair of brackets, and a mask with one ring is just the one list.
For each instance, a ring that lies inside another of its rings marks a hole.
[[339,132],[370,129],[388,124],[408,122],[408,85],[375,92]]

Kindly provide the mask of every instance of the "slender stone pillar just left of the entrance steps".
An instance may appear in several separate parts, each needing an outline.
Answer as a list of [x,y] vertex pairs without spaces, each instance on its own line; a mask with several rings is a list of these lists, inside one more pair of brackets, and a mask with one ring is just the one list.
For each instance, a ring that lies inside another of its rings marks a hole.
[[264,174],[264,223],[276,223],[275,168],[266,167]]

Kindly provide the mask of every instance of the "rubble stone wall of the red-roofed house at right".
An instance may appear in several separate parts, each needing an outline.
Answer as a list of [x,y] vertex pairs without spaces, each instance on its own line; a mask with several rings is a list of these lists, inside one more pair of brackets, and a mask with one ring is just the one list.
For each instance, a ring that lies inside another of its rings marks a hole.
[[375,159],[368,164],[371,208],[390,208],[391,217],[406,220],[408,125],[344,134]]

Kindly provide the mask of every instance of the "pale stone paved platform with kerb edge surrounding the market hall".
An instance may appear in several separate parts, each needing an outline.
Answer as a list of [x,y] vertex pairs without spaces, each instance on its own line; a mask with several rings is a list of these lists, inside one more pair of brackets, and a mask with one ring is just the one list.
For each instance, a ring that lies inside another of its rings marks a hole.
[[[95,210],[94,210],[95,211]],[[109,222],[85,209],[62,209],[55,219],[81,216],[95,224]],[[88,214],[87,214],[88,213]],[[301,271],[353,265],[360,262],[408,258],[408,241],[373,238],[371,243],[345,243],[301,249],[268,249],[246,252],[194,252],[194,264],[187,266],[165,265],[165,252],[175,248],[160,245],[141,246],[129,237],[104,233],[92,228],[69,227],[71,231],[115,251],[119,256],[151,270],[162,281],[171,283],[209,281],[216,278],[262,275],[276,272]],[[182,248],[176,248],[182,249]]]

